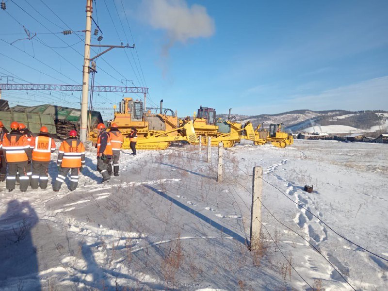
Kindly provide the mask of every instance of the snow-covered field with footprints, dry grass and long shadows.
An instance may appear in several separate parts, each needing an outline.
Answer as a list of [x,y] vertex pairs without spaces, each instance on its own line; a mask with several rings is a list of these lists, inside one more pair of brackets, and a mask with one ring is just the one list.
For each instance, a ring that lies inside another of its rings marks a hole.
[[[120,177],[100,184],[92,149],[74,192],[1,183],[0,290],[387,290],[387,145],[242,144],[224,150],[221,183],[216,151],[211,163],[189,145],[124,151]],[[254,166],[263,227],[251,252]]]

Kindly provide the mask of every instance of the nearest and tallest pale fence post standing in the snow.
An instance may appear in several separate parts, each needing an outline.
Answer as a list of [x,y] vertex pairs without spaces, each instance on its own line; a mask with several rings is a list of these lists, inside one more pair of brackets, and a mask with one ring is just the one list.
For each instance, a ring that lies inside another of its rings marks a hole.
[[252,208],[251,208],[251,234],[250,249],[254,250],[259,246],[261,231],[261,195],[263,191],[263,168],[254,167],[252,177]]

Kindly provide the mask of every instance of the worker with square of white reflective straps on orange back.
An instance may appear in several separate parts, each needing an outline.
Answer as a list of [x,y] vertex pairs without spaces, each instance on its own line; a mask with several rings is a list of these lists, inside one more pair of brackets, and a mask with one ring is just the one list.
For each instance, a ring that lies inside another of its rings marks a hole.
[[56,150],[54,139],[49,137],[49,129],[42,126],[38,136],[32,138],[32,189],[46,189],[49,181],[48,168],[51,153]]

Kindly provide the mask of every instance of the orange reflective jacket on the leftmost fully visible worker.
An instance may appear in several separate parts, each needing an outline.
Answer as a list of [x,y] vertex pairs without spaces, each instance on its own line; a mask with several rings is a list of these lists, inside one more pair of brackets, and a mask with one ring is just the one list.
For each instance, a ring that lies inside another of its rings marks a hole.
[[30,150],[30,143],[25,135],[16,140],[16,135],[7,134],[3,138],[2,148],[5,150],[5,159],[10,163],[27,162],[26,149]]

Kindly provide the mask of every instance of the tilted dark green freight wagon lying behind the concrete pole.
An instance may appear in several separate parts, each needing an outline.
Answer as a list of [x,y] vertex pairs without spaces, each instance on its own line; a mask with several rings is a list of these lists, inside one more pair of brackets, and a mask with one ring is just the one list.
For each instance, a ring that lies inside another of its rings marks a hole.
[[[56,105],[38,105],[32,107],[25,107],[15,111],[23,111],[25,113],[39,113],[41,115],[49,114],[53,117],[56,132],[59,137],[66,137],[70,130],[75,129],[80,131],[81,124],[81,110],[56,106]],[[98,123],[103,123],[101,113],[98,111],[88,111],[88,118],[90,117],[90,129],[97,126]]]

